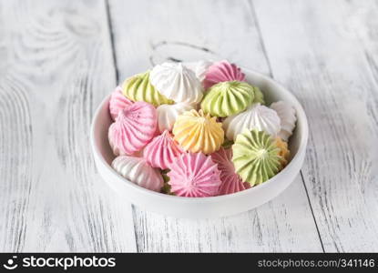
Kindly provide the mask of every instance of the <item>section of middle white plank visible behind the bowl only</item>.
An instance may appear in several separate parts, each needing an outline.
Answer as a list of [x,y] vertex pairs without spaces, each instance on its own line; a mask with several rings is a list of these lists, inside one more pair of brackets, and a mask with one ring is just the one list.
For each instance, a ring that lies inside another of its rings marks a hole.
[[111,0],[109,5],[120,79],[169,59],[225,57],[269,74],[245,1]]

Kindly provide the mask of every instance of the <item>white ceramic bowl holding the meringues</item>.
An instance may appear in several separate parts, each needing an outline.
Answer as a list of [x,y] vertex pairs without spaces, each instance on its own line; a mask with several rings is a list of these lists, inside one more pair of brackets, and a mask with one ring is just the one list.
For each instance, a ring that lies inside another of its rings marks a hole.
[[129,202],[144,209],[173,217],[203,218],[223,217],[237,214],[253,207],[261,206],[278,196],[288,187],[300,172],[307,146],[307,118],[298,100],[284,87],[270,77],[243,69],[247,81],[259,86],[268,104],[283,100],[295,107],[298,117],[297,125],[289,141],[291,161],[283,170],[265,183],[220,197],[175,197],[150,191],[121,177],[110,166],[115,158],[107,141],[107,128],[111,124],[108,113],[108,100],[105,98],[98,106],[93,118],[90,141],[97,169],[107,184],[114,188]]

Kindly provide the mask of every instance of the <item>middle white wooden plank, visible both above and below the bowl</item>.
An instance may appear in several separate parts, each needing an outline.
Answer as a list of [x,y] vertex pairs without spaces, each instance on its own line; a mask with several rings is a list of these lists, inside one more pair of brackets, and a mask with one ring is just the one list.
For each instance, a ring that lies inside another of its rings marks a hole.
[[[169,59],[227,58],[270,73],[247,1],[109,4],[120,80]],[[142,252],[322,251],[301,178],[238,216],[191,221],[136,208],[135,224]]]

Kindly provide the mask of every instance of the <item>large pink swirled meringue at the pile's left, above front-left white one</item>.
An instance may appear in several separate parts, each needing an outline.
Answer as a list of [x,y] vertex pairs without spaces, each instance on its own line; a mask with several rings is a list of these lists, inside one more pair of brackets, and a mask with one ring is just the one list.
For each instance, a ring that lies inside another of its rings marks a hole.
[[136,102],[120,111],[108,131],[114,154],[131,155],[145,147],[155,136],[157,124],[157,111],[148,103]]

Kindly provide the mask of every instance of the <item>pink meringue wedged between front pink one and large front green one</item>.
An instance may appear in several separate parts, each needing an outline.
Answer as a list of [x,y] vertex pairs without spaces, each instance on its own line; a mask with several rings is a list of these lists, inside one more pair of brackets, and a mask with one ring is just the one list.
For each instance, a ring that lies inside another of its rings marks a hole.
[[219,195],[228,195],[250,187],[249,183],[244,183],[241,177],[235,173],[235,167],[231,161],[232,149],[224,149],[223,147],[216,153],[211,154],[211,159],[218,164],[220,170]]

